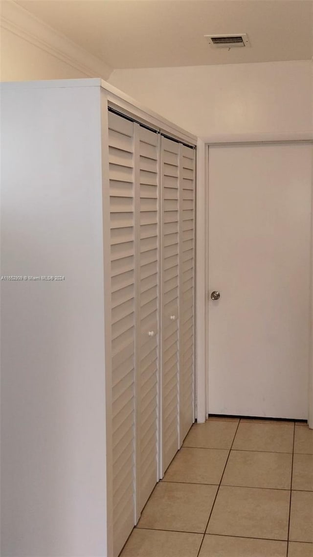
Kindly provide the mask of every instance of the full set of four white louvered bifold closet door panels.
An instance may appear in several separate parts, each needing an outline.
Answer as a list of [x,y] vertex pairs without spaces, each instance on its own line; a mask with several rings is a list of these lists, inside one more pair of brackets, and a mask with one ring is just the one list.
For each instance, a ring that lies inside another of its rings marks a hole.
[[109,112],[114,557],[194,419],[194,153]]

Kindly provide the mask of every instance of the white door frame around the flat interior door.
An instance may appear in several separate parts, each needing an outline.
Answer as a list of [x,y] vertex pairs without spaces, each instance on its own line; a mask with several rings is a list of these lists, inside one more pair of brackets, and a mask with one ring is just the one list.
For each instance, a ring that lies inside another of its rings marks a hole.
[[209,147],[229,144],[309,143],[312,145],[312,212],[311,212],[311,266],[310,266],[310,364],[309,364],[309,427],[313,429],[313,133],[303,134],[238,134],[212,136],[197,142],[197,196],[196,196],[196,416],[197,422],[206,421],[208,408],[208,192]]

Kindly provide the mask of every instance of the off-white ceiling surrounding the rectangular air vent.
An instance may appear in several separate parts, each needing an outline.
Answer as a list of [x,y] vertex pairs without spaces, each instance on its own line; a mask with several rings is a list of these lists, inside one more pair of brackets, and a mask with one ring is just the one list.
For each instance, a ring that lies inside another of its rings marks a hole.
[[[114,69],[199,66],[313,55],[313,0],[18,0]],[[247,33],[214,49],[208,34]]]

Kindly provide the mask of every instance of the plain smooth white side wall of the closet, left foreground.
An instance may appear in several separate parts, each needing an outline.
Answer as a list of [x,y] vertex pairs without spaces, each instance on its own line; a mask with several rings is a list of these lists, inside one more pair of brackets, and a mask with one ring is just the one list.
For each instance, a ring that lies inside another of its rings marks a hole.
[[1,275],[65,276],[0,282],[1,555],[104,557],[100,87],[4,90],[1,109]]

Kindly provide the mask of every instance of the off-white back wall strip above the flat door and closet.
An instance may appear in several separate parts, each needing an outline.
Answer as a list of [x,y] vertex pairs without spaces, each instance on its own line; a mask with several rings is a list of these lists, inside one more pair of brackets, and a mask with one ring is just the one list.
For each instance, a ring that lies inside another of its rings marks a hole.
[[313,131],[311,61],[114,70],[109,82],[202,138]]

